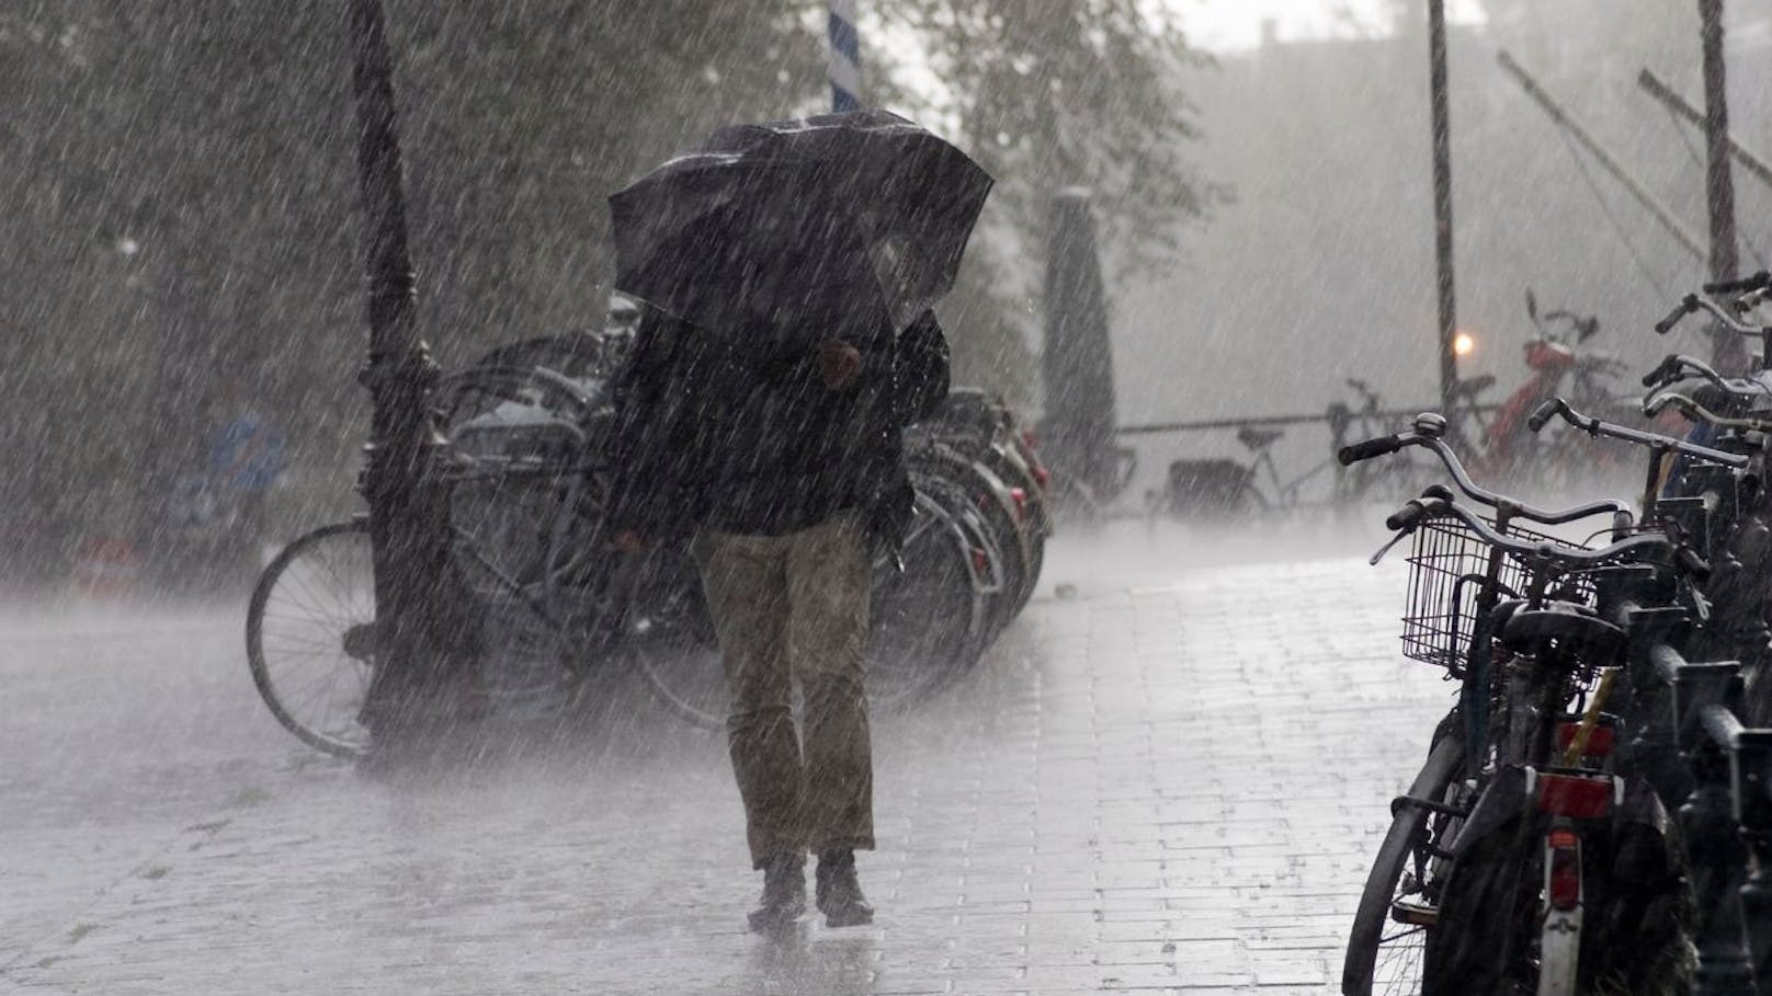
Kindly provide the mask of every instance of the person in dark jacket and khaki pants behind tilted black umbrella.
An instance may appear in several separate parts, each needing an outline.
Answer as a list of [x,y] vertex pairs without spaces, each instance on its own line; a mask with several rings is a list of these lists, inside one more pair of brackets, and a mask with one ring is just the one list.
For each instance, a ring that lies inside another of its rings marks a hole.
[[[610,198],[617,287],[647,303],[611,393],[617,548],[693,535],[728,748],[773,930],[868,923],[868,580],[909,526],[900,429],[946,397],[930,305],[991,177],[884,112],[716,131]],[[803,721],[794,718],[794,684]]]

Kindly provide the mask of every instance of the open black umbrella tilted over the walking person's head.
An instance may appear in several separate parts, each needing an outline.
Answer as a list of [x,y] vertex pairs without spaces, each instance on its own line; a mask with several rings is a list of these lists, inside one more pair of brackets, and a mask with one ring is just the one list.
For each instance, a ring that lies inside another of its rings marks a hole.
[[989,191],[888,112],[721,128],[610,197],[615,285],[728,337],[799,344],[881,312],[902,330],[953,287]]

